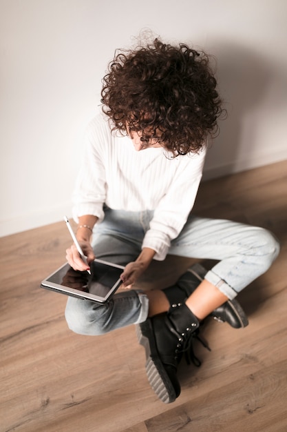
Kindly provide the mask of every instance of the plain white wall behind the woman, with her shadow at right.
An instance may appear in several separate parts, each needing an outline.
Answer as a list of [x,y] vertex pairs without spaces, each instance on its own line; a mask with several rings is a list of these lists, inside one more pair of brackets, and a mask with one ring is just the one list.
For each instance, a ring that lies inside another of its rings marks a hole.
[[287,158],[286,0],[0,0],[0,235],[70,215],[107,62],[142,28],[217,57],[206,178]]

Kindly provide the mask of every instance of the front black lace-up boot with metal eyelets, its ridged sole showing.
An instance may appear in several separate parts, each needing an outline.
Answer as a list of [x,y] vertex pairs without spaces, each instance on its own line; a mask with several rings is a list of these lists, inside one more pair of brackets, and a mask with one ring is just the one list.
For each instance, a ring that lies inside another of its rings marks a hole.
[[149,384],[162,402],[168,404],[180,395],[178,364],[184,352],[193,353],[191,339],[199,325],[189,308],[178,304],[136,326],[138,342],[145,348]]

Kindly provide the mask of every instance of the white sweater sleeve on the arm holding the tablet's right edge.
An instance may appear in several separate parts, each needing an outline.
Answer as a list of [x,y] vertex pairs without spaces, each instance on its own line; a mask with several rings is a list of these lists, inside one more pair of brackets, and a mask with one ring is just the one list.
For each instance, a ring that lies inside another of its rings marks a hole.
[[176,175],[156,207],[142,242],[142,248],[156,251],[154,259],[166,257],[171,240],[178,237],[187,222],[202,178],[205,153],[202,150],[200,154],[180,156]]

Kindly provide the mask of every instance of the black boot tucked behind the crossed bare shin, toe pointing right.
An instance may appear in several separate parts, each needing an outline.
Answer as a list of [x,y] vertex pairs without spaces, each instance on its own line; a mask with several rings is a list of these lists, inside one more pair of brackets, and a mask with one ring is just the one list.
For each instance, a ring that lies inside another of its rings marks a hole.
[[[200,264],[195,264],[178,279],[174,286],[165,288],[163,291],[170,304],[184,302],[195,291],[195,288],[202,282],[206,269]],[[219,322],[228,322],[234,328],[248,326],[248,318],[237,300],[227,300],[222,306],[216,308],[209,315]]]

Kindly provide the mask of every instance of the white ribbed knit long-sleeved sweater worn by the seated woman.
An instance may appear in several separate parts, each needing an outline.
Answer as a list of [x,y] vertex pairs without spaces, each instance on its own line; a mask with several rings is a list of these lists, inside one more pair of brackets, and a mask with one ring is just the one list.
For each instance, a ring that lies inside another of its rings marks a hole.
[[73,217],[105,217],[109,208],[154,210],[142,247],[164,259],[193,207],[202,177],[205,150],[197,155],[171,157],[163,148],[136,151],[129,137],[111,132],[107,118],[98,115],[85,134],[83,163],[74,191]]

